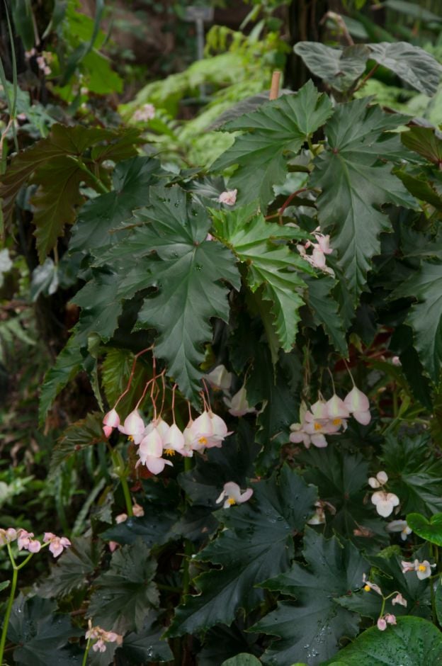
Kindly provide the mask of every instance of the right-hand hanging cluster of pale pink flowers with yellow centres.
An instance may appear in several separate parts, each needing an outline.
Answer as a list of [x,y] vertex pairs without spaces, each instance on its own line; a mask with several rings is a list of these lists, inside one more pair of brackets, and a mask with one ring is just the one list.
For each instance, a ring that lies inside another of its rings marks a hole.
[[302,402],[300,407],[300,423],[290,426],[290,441],[294,444],[302,442],[305,448],[311,444],[318,448],[327,446],[325,435],[336,435],[347,427],[347,419],[353,417],[361,424],[370,422],[370,405],[368,397],[356,386],[346,395],[344,400],[334,393],[327,402],[319,397],[317,402],[307,410]]

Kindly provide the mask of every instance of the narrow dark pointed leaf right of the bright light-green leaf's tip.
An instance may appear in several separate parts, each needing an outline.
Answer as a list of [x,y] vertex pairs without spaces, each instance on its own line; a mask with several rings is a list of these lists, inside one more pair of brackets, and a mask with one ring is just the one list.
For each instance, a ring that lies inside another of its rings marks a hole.
[[322,325],[329,341],[341,356],[346,357],[348,347],[344,322],[339,313],[339,305],[334,299],[334,280],[326,275],[316,279],[305,278],[307,282],[307,305],[312,310],[313,320],[317,326]]

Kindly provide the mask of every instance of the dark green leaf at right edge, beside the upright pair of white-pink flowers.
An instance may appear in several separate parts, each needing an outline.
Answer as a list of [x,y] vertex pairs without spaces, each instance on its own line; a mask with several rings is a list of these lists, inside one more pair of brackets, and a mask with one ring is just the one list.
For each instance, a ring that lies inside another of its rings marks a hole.
[[442,512],[442,462],[429,434],[401,439],[387,436],[382,462],[390,477],[389,489],[400,497],[402,512],[419,512],[426,517]]

